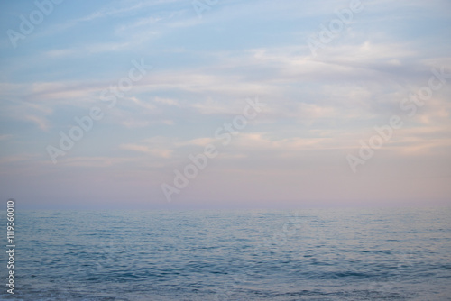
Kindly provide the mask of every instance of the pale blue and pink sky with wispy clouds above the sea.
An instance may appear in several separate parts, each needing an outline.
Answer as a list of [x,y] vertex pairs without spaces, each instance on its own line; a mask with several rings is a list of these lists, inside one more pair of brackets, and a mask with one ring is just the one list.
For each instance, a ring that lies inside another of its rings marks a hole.
[[447,0],[0,4],[0,199],[451,205]]

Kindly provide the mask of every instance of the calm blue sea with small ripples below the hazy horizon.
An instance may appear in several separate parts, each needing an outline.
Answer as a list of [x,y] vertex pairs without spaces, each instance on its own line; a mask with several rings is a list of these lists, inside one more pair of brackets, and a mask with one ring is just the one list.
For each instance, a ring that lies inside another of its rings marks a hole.
[[15,293],[4,284],[2,299],[451,300],[450,209],[53,211],[15,223]]

